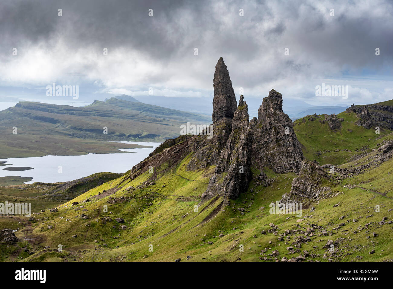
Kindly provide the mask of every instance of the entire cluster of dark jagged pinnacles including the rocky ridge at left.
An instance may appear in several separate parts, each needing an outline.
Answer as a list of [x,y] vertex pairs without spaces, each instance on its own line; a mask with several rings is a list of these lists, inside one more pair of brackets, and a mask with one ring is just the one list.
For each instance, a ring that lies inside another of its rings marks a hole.
[[[253,165],[259,170],[270,166],[275,172],[298,172],[303,153],[292,127],[292,121],[283,110],[281,93],[269,92],[258,110],[258,119],[249,121],[248,107],[241,95],[236,104],[231,79],[222,57],[218,60],[213,79],[213,134],[179,136],[161,144],[147,159],[131,169],[130,178],[151,170],[148,181],[157,177],[156,168],[165,164],[171,170],[186,156],[190,157],[187,170],[217,165],[202,201],[217,195],[225,200],[236,199],[248,189]],[[152,170],[153,168],[153,170]],[[266,174],[257,177],[268,185]]]

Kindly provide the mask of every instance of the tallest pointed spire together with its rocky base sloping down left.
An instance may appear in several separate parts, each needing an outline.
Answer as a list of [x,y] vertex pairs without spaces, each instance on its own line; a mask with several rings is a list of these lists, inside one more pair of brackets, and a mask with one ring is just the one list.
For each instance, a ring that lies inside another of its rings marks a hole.
[[[216,65],[213,87],[212,138],[209,139],[206,135],[180,135],[175,139],[165,141],[149,155],[150,159],[141,161],[131,169],[131,179],[146,172],[149,166],[157,167],[165,161],[174,165],[180,157],[184,157],[191,152],[193,155],[187,164],[187,170],[197,170],[209,165],[217,165],[221,151],[231,134],[233,114],[237,109],[232,82],[222,57]],[[176,152],[171,149],[173,146],[178,147]]]

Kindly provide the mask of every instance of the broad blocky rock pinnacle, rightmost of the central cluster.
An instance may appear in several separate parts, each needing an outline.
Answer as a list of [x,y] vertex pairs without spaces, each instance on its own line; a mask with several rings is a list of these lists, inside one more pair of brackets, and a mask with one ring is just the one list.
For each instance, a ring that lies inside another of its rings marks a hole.
[[298,172],[303,152],[292,121],[283,112],[283,97],[274,89],[263,99],[258,119],[250,121],[252,157],[258,168],[270,166],[277,173]]

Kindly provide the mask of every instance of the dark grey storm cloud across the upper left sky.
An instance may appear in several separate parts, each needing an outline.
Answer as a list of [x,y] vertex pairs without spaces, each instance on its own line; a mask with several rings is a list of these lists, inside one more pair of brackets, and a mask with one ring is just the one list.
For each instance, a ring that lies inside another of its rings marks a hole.
[[[203,36],[205,25],[215,26],[203,1],[48,0],[6,1],[0,5],[3,45],[46,41],[50,46],[51,40],[61,35],[70,47],[125,46],[165,60],[176,53],[190,29],[174,21],[178,15],[192,13],[190,30],[196,39]],[[57,15],[59,8],[62,17]],[[150,8],[153,17],[148,17]]]

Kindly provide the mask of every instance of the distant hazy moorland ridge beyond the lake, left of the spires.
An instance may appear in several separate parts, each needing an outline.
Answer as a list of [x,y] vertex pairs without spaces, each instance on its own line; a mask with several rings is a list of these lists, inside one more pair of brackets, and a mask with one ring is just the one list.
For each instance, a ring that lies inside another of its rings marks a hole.
[[0,157],[118,152],[124,144],[107,141],[162,142],[187,122],[211,117],[114,97],[84,107],[23,101],[0,111]]

